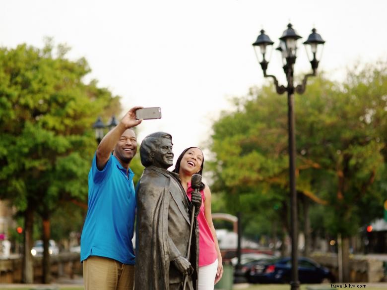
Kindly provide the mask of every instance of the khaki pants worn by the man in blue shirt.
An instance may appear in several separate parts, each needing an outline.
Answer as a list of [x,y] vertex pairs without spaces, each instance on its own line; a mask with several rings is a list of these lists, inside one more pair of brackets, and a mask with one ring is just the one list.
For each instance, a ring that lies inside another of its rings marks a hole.
[[83,261],[85,290],[133,290],[134,265],[90,256]]

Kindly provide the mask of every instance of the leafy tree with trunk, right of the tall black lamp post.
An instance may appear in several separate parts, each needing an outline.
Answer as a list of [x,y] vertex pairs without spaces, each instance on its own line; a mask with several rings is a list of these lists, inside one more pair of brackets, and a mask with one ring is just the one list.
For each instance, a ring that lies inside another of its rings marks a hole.
[[298,128],[304,133],[299,148],[324,171],[323,178],[314,174],[314,190],[322,192],[323,183],[330,183],[322,194],[329,205],[324,222],[328,232],[342,236],[344,281],[349,280],[349,237],[381,216],[375,203],[382,208],[386,197],[386,191],[375,190],[386,163],[386,68],[382,62],[355,67],[341,85],[299,102]]

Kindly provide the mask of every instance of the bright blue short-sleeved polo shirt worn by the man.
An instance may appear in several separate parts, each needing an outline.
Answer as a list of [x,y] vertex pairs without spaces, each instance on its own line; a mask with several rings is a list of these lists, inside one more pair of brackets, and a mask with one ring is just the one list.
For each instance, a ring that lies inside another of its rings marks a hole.
[[[129,175],[129,176],[128,176]],[[134,265],[131,239],[135,217],[133,172],[110,156],[97,168],[96,156],[89,172],[89,199],[81,235],[81,261],[101,256]]]

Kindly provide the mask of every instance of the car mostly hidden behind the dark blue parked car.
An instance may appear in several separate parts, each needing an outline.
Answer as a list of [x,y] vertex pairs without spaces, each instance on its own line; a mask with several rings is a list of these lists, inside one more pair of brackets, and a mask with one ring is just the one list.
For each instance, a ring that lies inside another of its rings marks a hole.
[[241,266],[236,267],[238,258],[231,259],[234,266],[234,283],[245,283],[253,266],[273,263],[277,258],[267,254],[246,253],[241,255]]

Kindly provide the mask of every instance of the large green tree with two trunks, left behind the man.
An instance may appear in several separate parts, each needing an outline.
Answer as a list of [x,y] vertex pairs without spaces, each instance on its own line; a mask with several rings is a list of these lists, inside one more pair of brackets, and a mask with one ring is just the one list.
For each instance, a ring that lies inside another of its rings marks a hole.
[[48,39],[42,49],[0,49],[0,198],[24,215],[25,283],[33,281],[34,213],[43,220],[44,282],[49,282],[50,217],[62,202],[87,200],[87,174],[96,141],[92,123],[101,112],[119,113],[119,97],[97,81],[83,82],[84,58],[65,58]]

